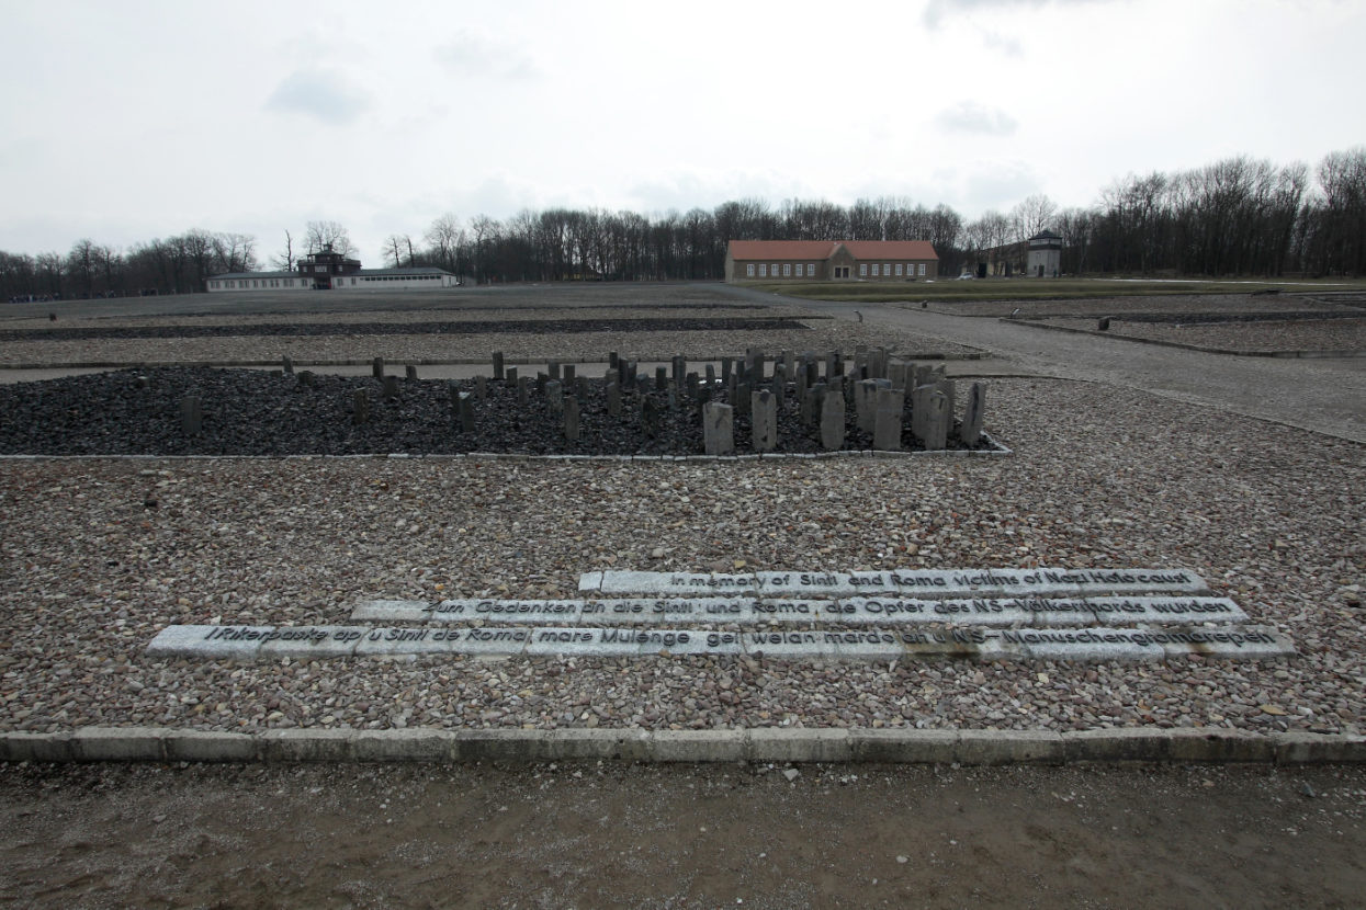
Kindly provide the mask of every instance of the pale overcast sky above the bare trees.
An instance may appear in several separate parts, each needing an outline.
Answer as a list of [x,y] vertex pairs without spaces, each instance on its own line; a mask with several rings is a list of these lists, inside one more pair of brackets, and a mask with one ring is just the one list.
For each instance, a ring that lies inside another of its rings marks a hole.
[[0,0],[0,250],[1044,192],[1366,142],[1362,0]]

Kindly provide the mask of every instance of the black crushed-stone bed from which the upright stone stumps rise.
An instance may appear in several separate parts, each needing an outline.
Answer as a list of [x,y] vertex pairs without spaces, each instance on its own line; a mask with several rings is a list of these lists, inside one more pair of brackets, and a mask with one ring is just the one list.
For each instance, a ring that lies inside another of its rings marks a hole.
[[[139,381],[145,378],[145,386]],[[667,392],[626,392],[622,415],[607,412],[601,381],[587,383],[581,405],[581,438],[564,438],[561,417],[552,413],[534,383],[530,400],[516,402],[516,389],[489,381],[488,397],[475,400],[475,430],[463,432],[455,419],[451,387],[475,392],[475,381],[398,381],[398,397],[385,398],[373,377],[299,377],[261,370],[167,367],[120,370],[44,382],[0,386],[0,454],[33,456],[301,456],[301,454],[702,454],[701,405],[686,393],[671,408]],[[369,420],[352,422],[354,393],[365,390]],[[792,386],[788,386],[791,392]],[[717,387],[716,400],[724,401]],[[962,392],[960,392],[962,394]],[[187,435],[180,402],[201,400],[202,427]],[[657,413],[657,428],[642,422],[642,400]],[[869,434],[847,411],[846,449],[873,447]],[[910,434],[910,409],[902,446],[919,446]],[[751,450],[749,417],[735,415],[735,446]],[[956,428],[949,449],[966,449]],[[978,450],[992,450],[981,441]],[[795,394],[779,412],[779,452],[821,450],[816,427],[802,424]]]

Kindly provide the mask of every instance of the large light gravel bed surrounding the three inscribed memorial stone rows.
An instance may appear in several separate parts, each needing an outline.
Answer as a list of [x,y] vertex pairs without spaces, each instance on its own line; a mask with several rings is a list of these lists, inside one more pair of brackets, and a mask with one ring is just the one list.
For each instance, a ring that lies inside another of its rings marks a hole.
[[[0,729],[1362,731],[1361,445],[1064,381],[992,382],[988,428],[1014,458],[0,461]],[[168,623],[344,623],[374,598],[564,598],[581,572],[736,561],[1183,566],[1288,634],[1299,656],[888,666],[143,655]]]

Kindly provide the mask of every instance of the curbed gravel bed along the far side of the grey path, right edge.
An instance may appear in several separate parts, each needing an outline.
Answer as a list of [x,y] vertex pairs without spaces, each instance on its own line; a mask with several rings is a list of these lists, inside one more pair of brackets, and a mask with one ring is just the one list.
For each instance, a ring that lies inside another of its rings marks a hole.
[[[1093,318],[1053,318],[1042,322],[1067,329],[1096,330],[1096,319]],[[1366,352],[1366,317],[1195,325],[1112,319],[1109,334],[1176,341],[1238,353],[1269,351]]]

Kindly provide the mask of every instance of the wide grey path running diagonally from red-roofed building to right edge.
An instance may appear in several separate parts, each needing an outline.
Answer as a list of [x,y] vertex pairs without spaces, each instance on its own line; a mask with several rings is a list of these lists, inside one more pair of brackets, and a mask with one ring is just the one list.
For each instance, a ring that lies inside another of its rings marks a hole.
[[[907,329],[978,348],[1029,375],[1146,389],[1177,401],[1366,442],[1366,357],[1281,359],[1203,353],[877,304],[799,300],[731,289],[732,296],[805,307],[837,319]],[[985,364],[984,364],[985,366]]]

